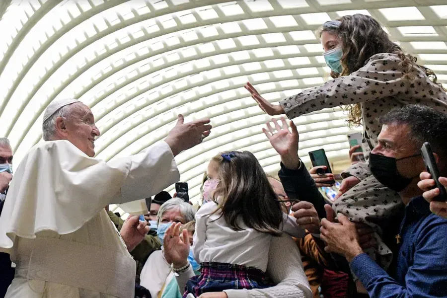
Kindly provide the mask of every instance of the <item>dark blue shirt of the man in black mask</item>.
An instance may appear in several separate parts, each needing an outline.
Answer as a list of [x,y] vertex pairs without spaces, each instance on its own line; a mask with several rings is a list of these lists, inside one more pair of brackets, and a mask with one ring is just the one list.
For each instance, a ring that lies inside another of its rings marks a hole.
[[367,254],[351,262],[371,298],[447,297],[447,220],[430,212],[422,196],[405,207],[395,277]]

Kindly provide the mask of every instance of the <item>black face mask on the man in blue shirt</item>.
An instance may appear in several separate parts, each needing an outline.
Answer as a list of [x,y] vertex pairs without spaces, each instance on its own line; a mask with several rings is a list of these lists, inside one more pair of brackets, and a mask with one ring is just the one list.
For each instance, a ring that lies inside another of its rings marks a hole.
[[421,156],[421,154],[396,159],[394,157],[370,153],[370,170],[378,182],[394,191],[399,192],[405,189],[405,187],[413,181],[414,177],[403,177],[397,170],[397,160],[415,156]]

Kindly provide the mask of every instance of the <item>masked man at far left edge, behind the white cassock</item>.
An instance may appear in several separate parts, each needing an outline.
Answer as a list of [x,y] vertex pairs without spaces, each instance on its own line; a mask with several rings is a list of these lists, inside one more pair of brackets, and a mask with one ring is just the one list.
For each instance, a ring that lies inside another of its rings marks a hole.
[[[0,215],[11,179],[12,149],[7,138],[0,138]],[[14,268],[7,253],[0,252],[0,272],[0,297],[4,297],[14,278]]]

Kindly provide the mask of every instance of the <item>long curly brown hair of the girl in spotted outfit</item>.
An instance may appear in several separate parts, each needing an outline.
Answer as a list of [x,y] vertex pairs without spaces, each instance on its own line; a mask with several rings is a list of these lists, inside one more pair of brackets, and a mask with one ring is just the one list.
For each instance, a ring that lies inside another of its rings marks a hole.
[[[320,37],[322,32],[327,31],[337,35],[342,43],[343,57],[340,62],[343,71],[341,74],[331,72],[332,77],[335,78],[358,71],[375,54],[393,53],[401,60],[400,66],[404,72],[404,79],[415,79],[412,71],[415,68],[420,68],[434,83],[437,83],[438,78],[436,74],[432,70],[418,65],[416,57],[405,54],[401,47],[389,39],[388,34],[373,17],[364,14],[354,14],[343,16],[338,20],[341,21],[338,28],[323,27],[320,30]],[[360,103],[348,105],[346,110],[349,111],[348,121],[350,124],[362,124]]]

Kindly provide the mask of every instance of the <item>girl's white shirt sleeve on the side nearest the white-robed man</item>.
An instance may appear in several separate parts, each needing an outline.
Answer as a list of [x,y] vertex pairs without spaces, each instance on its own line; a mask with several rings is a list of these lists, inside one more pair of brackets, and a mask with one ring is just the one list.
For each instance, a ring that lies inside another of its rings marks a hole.
[[207,225],[209,216],[216,210],[217,205],[214,202],[208,202],[196,213],[196,229],[193,237],[193,254],[197,263],[203,262],[200,260],[200,252],[202,251],[205,241],[207,240]]

